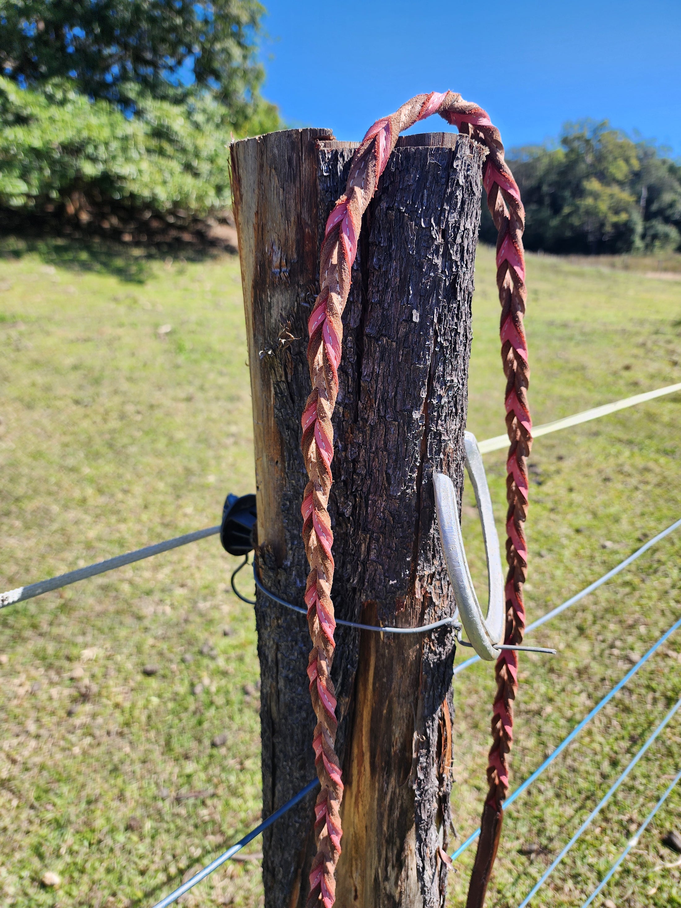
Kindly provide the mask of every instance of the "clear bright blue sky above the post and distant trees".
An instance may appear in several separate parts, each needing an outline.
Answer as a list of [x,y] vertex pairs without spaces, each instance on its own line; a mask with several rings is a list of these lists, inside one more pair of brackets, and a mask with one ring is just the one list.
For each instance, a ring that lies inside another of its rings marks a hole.
[[291,125],[359,140],[411,95],[450,88],[507,147],[591,117],[681,155],[681,0],[262,3],[262,94]]

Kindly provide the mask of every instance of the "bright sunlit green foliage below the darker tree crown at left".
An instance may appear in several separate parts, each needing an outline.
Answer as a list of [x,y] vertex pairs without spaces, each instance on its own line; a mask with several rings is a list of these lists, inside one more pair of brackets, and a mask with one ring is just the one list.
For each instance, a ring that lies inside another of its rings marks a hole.
[[[230,202],[228,108],[210,94],[170,104],[140,92],[139,115],[90,101],[64,80],[42,91],[0,77],[0,204],[40,211],[74,193],[97,205],[204,214]],[[268,116],[270,120],[268,122]],[[276,128],[268,108],[246,124]]]

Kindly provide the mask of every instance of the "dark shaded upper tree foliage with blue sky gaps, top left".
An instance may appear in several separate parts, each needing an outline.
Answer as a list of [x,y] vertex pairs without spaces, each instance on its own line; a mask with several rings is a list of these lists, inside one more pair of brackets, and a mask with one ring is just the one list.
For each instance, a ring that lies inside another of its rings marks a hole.
[[263,13],[255,0],[0,0],[0,65],[27,87],[68,79],[123,105],[135,103],[135,84],[180,102],[209,89],[246,120],[263,77]]

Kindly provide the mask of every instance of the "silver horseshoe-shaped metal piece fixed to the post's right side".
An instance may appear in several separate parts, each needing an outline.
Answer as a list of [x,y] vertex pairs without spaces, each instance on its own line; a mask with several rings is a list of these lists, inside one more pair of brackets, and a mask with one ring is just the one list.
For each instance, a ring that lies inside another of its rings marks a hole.
[[465,462],[478,504],[489,580],[489,605],[483,617],[478,597],[470,578],[469,563],[463,548],[459,508],[454,483],[444,473],[433,473],[435,509],[438,514],[439,538],[447,562],[449,582],[459,607],[461,624],[473,648],[481,659],[491,661],[498,656],[504,637],[504,574],[501,568],[497,528],[494,525],[492,501],[478,442],[472,432],[464,438]]

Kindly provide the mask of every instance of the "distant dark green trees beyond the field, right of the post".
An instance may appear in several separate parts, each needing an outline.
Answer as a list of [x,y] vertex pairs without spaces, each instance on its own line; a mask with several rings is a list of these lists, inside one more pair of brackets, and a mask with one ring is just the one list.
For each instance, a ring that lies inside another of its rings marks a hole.
[[[568,123],[556,146],[513,149],[526,248],[563,253],[681,249],[681,163],[603,123]],[[484,206],[486,208],[486,206]],[[496,242],[484,211],[480,237]]]

